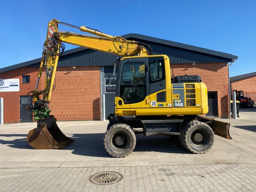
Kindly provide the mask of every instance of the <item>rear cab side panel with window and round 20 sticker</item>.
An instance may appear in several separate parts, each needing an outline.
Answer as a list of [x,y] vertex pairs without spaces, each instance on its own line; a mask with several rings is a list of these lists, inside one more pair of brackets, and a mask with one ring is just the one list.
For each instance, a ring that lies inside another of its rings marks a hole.
[[166,107],[166,78],[164,57],[149,57],[149,100],[150,108]]

